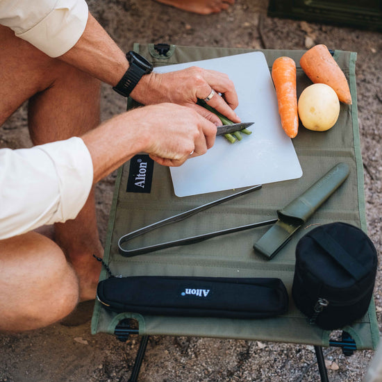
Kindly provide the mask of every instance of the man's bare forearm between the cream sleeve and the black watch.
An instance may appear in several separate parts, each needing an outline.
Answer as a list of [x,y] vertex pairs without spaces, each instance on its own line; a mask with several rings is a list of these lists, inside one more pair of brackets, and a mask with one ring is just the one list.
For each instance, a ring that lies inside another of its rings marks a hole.
[[112,86],[128,68],[124,52],[90,13],[81,38],[58,58]]

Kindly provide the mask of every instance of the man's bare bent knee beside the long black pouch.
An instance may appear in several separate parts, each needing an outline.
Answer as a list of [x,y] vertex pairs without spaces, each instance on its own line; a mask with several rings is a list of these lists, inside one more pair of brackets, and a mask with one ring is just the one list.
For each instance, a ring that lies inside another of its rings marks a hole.
[[78,302],[78,280],[63,251],[34,232],[0,241],[0,290],[0,331],[53,324]]

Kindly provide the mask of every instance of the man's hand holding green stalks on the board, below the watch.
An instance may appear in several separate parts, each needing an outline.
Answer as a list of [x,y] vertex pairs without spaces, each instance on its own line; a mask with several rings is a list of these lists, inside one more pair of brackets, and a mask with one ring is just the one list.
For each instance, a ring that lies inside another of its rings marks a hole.
[[197,105],[198,99],[208,97],[211,90],[215,90],[215,94],[208,101],[208,105],[233,122],[240,122],[240,118],[233,111],[239,103],[235,86],[229,76],[215,70],[189,67],[165,74],[151,73],[141,78],[131,92],[131,97],[144,105],[172,102],[190,106],[218,126],[221,124],[219,118]]

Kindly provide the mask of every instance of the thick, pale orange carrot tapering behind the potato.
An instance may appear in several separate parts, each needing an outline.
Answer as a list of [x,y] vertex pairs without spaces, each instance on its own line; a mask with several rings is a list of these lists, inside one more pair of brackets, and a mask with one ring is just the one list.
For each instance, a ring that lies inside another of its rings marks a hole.
[[329,85],[340,101],[351,105],[351,94],[344,72],[325,45],[315,45],[306,51],[301,57],[300,65],[313,83]]

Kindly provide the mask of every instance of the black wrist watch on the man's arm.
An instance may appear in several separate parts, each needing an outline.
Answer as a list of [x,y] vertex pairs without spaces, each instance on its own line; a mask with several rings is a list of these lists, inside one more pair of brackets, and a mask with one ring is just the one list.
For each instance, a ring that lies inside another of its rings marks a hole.
[[128,51],[126,58],[128,60],[128,69],[121,78],[121,81],[113,87],[113,90],[124,97],[130,95],[144,74],[149,74],[153,71],[153,65],[146,58],[135,53],[135,51]]

